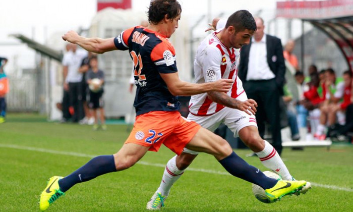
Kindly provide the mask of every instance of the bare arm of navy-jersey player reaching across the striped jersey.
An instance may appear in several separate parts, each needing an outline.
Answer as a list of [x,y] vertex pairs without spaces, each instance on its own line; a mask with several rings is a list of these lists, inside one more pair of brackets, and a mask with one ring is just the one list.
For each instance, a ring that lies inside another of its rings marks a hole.
[[195,84],[179,79],[178,72],[170,74],[160,74],[168,89],[174,96],[190,96],[209,91],[228,92],[233,80],[220,79],[215,82]]

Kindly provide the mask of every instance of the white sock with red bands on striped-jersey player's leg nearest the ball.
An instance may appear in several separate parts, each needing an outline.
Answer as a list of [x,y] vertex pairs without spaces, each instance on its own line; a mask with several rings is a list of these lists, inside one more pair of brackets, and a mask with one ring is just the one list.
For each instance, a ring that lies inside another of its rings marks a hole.
[[289,174],[276,149],[269,142],[265,140],[264,142],[265,148],[260,152],[255,152],[259,156],[261,163],[268,169],[279,174],[283,180],[291,180],[292,176]]

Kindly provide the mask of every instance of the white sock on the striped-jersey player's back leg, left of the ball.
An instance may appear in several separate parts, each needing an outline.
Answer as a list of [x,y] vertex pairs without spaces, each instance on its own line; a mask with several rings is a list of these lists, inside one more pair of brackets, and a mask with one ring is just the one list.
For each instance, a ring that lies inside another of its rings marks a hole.
[[177,155],[172,157],[165,166],[162,182],[160,182],[157,192],[162,196],[168,196],[171,186],[177,181],[185,170],[179,170],[176,163]]

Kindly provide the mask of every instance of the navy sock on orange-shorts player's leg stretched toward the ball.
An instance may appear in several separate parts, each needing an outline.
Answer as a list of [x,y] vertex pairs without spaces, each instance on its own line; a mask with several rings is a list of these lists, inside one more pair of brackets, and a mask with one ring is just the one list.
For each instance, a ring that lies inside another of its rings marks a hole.
[[277,180],[266,177],[258,168],[250,166],[235,152],[220,160],[219,163],[231,175],[259,185],[263,189],[272,188],[277,183]]

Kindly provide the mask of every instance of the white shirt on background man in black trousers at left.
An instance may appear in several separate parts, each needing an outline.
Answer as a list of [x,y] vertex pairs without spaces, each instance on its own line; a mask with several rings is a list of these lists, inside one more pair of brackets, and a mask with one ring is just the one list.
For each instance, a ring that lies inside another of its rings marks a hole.
[[68,51],[63,58],[63,66],[68,67],[68,75],[65,82],[81,82],[83,74],[79,72],[82,60],[87,57],[85,50],[77,49],[76,52]]

